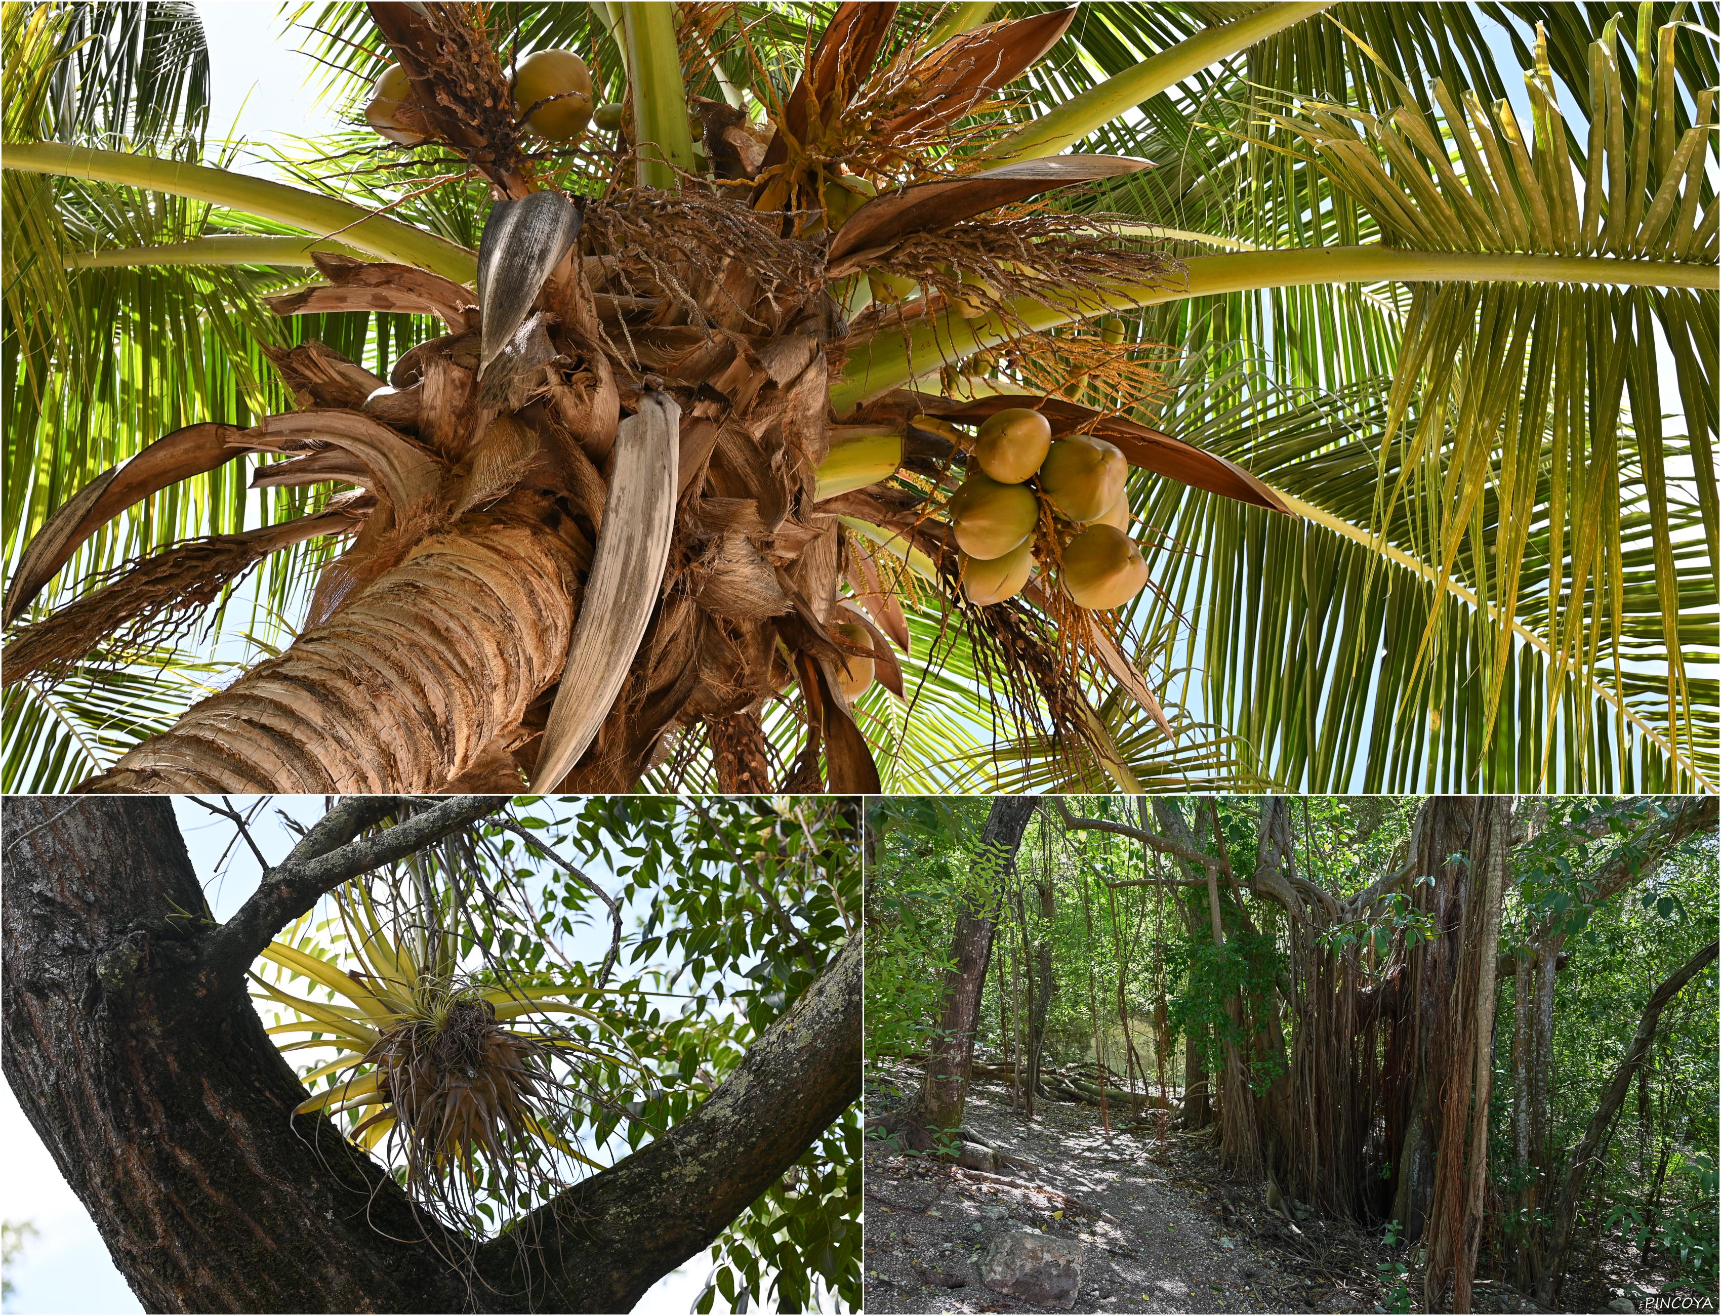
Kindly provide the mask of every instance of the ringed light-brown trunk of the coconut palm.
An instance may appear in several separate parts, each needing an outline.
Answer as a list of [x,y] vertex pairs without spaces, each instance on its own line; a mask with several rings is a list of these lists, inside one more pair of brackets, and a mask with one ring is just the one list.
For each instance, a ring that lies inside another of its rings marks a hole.
[[561,674],[582,549],[525,520],[461,518],[84,790],[516,790],[497,738]]

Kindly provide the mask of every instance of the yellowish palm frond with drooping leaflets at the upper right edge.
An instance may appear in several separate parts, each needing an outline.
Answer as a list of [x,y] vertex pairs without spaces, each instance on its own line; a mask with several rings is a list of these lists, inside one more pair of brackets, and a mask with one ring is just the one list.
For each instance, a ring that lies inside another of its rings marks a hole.
[[[1440,79],[1432,86],[1439,117],[1411,103],[1380,117],[1305,103],[1299,115],[1275,119],[1313,150],[1327,184],[1368,213],[1387,244],[1712,265],[1716,243],[1712,232],[1704,234],[1714,227],[1716,198],[1704,163],[1714,158],[1716,93],[1688,88],[1697,122],[1678,131],[1671,112],[1678,29],[1664,28],[1657,38],[1650,17],[1645,9],[1637,33],[1635,103],[1618,77],[1618,22],[1590,46],[1587,158],[1559,114],[1545,41],[1527,74],[1535,115],[1530,131],[1508,101],[1485,107],[1475,93],[1454,96]],[[1409,511],[1404,547],[1437,566],[1442,580],[1463,578],[1480,607],[1502,619],[1516,618],[1528,602],[1521,600],[1527,573],[1540,564],[1552,647],[1549,710],[1561,705],[1568,676],[1578,686],[1590,683],[1602,654],[1613,650],[1618,678],[1626,635],[1642,636],[1645,623],[1656,619],[1671,623],[1656,636],[1666,654],[1661,745],[1683,764],[1675,779],[1693,783],[1699,774],[1711,776],[1704,769],[1712,769],[1716,747],[1712,736],[1706,735],[1707,743],[1697,738],[1699,721],[1711,719],[1697,716],[1693,700],[1700,695],[1687,674],[1685,650],[1712,631],[1712,614],[1707,626],[1699,618],[1688,630],[1678,624],[1688,609],[1681,607],[1673,535],[1693,526],[1676,525],[1681,518],[1673,514],[1669,495],[1700,506],[1700,538],[1709,552],[1681,556],[1687,573],[1695,568],[1697,580],[1712,580],[1712,416],[1707,408],[1688,416],[1695,425],[1681,456],[1692,461],[1695,482],[1676,489],[1661,434],[1654,327],[1678,344],[1676,372],[1687,375],[1680,390],[1700,396],[1707,380],[1692,373],[1700,370],[1702,317],[1692,310],[1702,296],[1583,286],[1418,286],[1370,516],[1377,528],[1391,525],[1403,499]],[[1621,413],[1633,428],[1625,439]],[[1630,540],[1619,523],[1619,485],[1630,478],[1623,468],[1633,458],[1650,511],[1638,528],[1647,542]],[[1389,478],[1392,461],[1399,470]],[[1547,521],[1542,535],[1539,521]],[[1645,547],[1654,590],[1630,590],[1626,563]],[[1425,623],[1413,673],[1439,645],[1444,602],[1446,592]],[[1508,624],[1490,630],[1490,643],[1475,654],[1484,741],[1499,717],[1514,649]],[[1588,719],[1582,710],[1576,717],[1583,736]],[[1547,717],[1537,755],[1544,771],[1554,721]]]

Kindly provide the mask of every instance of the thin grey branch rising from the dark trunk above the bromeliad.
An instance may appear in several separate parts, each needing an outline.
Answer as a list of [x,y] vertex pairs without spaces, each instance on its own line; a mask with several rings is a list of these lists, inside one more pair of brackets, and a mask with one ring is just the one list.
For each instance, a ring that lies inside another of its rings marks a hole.
[[494,814],[506,795],[456,795],[404,822],[353,839],[401,807],[408,796],[353,795],[324,814],[286,860],[268,869],[239,912],[205,938],[210,969],[243,974],[263,953],[270,938],[310,910],[320,896],[372,869],[404,858]]

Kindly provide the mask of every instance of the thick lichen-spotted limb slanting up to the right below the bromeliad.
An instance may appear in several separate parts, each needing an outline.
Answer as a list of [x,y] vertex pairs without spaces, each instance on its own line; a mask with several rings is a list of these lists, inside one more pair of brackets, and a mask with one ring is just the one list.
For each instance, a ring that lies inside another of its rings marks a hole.
[[850,938],[706,1104],[487,1244],[492,1283],[530,1287],[540,1311],[628,1311],[860,1096],[860,994]]

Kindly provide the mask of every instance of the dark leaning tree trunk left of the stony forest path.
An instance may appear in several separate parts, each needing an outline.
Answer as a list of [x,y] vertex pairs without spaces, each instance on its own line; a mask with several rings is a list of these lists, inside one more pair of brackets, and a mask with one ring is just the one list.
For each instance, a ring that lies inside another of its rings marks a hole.
[[979,834],[978,869],[969,898],[957,908],[957,927],[950,946],[952,965],[945,972],[943,1006],[938,1032],[926,1060],[926,1082],[907,1118],[922,1128],[960,1128],[969,1067],[974,1063],[974,1030],[979,1024],[981,987],[986,986],[986,960],[996,929],[1003,876],[1015,860],[1015,850],[1034,815],[1034,796],[1000,795],[991,802],[986,826]]

